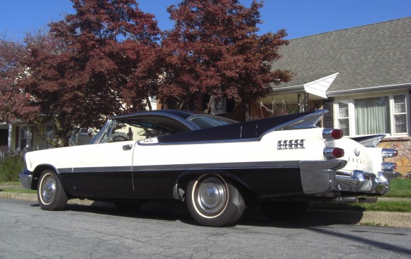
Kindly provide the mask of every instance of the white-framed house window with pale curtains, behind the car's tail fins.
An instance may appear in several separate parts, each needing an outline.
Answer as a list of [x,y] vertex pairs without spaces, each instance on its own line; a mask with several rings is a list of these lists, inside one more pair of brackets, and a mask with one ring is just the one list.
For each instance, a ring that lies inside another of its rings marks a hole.
[[407,96],[395,94],[338,100],[337,125],[346,136],[408,133]]

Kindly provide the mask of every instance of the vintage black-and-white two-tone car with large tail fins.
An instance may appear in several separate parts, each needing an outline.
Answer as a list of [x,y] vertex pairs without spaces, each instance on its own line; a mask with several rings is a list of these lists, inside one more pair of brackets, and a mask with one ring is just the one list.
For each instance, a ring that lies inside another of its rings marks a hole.
[[249,122],[180,110],[111,117],[88,145],[28,152],[21,183],[38,190],[46,210],[72,198],[120,208],[176,199],[204,226],[235,224],[246,206],[290,219],[311,200],[388,192],[398,173],[383,159],[397,152],[376,147],[384,135],[343,137],[316,126],[325,113]]

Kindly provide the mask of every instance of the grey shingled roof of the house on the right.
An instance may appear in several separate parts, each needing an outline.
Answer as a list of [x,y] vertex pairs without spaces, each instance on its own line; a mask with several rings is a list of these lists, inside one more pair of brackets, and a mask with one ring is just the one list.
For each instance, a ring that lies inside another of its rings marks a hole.
[[274,69],[295,73],[300,86],[339,72],[328,89],[351,91],[376,86],[411,86],[411,17],[290,40]]

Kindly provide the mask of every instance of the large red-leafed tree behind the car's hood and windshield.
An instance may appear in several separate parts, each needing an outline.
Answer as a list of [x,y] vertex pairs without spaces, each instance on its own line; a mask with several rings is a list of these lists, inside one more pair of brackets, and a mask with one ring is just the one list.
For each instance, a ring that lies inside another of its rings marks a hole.
[[72,2],[75,14],[51,23],[47,35],[26,38],[29,76],[18,82],[33,100],[26,107],[41,115],[30,122],[55,124],[57,142],[47,139],[54,146],[67,146],[74,125],[99,127],[107,115],[145,109],[157,93],[154,16],[135,0]]

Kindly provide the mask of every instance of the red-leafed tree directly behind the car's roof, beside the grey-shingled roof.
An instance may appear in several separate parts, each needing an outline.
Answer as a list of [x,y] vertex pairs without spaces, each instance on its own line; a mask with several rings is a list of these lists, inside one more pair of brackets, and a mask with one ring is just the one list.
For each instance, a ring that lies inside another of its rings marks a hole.
[[285,30],[257,35],[259,8],[238,0],[183,0],[168,11],[174,28],[162,40],[163,84],[158,98],[177,108],[198,106],[203,94],[249,104],[289,81],[291,73],[274,69],[278,49],[288,44]]

